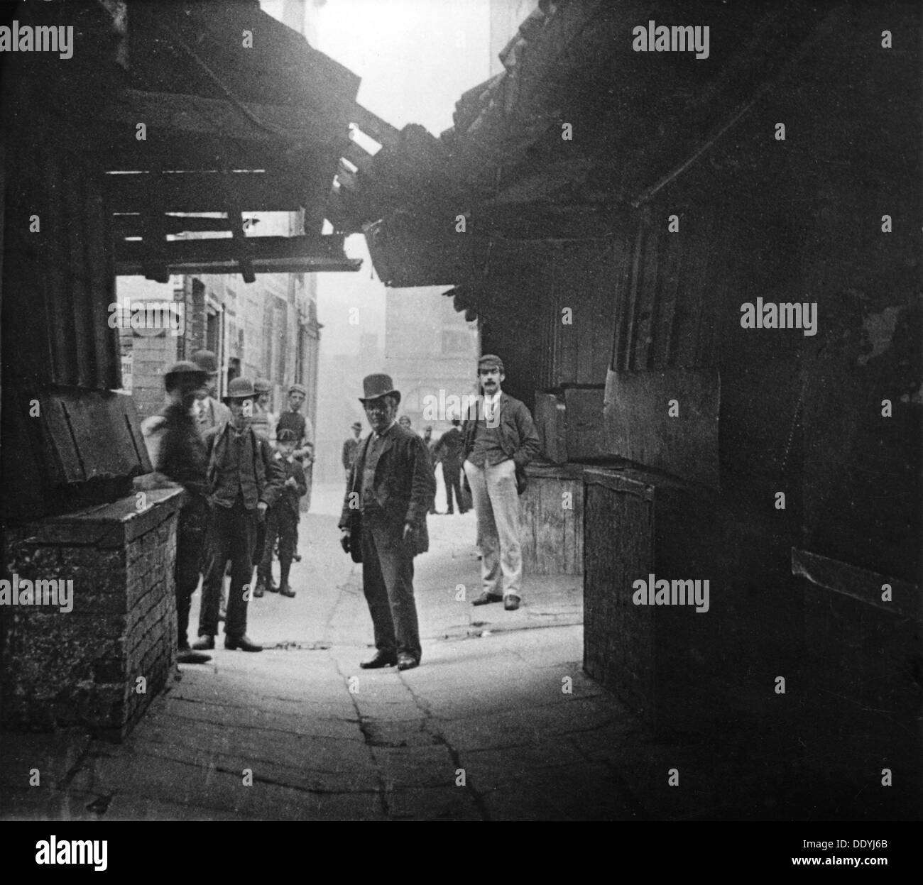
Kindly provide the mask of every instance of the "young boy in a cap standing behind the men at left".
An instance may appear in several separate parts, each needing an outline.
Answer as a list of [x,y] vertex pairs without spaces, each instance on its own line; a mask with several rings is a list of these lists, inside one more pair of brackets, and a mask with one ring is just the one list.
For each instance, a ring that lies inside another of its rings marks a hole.
[[[298,528],[298,498],[307,494],[305,469],[294,457],[297,442],[293,430],[282,429],[276,435],[276,453],[273,460],[285,472],[282,496],[270,507],[266,514],[266,543],[263,546],[263,558],[257,568],[257,586],[254,596],[262,596],[267,590],[280,592],[282,596],[294,596],[289,587],[288,573],[292,568],[295,532]],[[279,587],[272,583],[272,548],[279,538]]]

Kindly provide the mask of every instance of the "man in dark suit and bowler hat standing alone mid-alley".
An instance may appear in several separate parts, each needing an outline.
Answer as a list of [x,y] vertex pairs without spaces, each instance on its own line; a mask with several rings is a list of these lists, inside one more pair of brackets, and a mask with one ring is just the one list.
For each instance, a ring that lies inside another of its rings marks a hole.
[[429,549],[426,511],[436,477],[423,439],[394,420],[401,394],[390,376],[366,376],[363,389],[360,401],[372,433],[353,465],[340,519],[343,549],[354,558],[361,552],[362,587],[375,628],[377,651],[360,666],[409,670],[422,653],[414,556]]

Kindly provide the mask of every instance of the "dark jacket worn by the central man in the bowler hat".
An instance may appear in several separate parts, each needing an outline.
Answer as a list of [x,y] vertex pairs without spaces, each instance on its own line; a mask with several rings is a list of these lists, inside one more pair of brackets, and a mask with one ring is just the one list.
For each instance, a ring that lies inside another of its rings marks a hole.
[[[340,528],[354,531],[360,517],[358,506],[362,499],[362,475],[365,471],[366,450],[371,435],[359,444],[346,496],[343,498]],[[378,507],[394,524],[395,529],[406,522],[416,529],[414,556],[429,549],[429,534],[426,532],[426,512],[436,496],[436,474],[429,457],[429,450],[422,437],[401,425],[393,425],[385,437],[375,469],[373,490]]]

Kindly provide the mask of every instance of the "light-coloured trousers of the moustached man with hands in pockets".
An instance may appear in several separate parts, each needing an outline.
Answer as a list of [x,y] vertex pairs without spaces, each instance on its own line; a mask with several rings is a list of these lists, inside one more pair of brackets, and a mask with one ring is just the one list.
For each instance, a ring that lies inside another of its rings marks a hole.
[[475,467],[466,460],[464,472],[477,512],[483,589],[497,595],[521,596],[522,548],[516,465],[508,459],[493,466]]

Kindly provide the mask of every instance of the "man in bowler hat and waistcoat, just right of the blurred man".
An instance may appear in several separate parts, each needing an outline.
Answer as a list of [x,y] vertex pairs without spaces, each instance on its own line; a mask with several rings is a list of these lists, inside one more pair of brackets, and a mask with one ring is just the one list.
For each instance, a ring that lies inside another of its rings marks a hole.
[[202,584],[202,609],[195,649],[213,649],[218,632],[218,603],[224,580],[224,563],[231,560],[224,648],[261,652],[262,646],[246,636],[246,608],[253,577],[253,553],[258,521],[282,494],[284,472],[272,457],[270,444],[250,426],[256,400],[248,378],[234,378],[227,403],[232,420],[210,430],[205,437],[209,455],[209,487],[214,514],[211,520],[210,562]]

